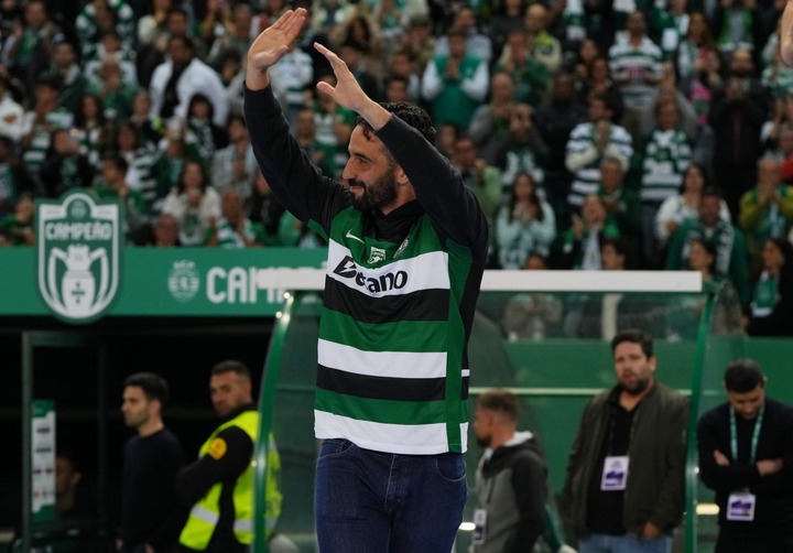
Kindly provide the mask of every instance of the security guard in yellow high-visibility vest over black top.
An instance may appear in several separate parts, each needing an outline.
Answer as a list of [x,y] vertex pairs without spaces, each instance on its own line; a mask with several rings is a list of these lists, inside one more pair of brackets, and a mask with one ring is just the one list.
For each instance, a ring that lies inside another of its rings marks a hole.
[[[245,553],[253,541],[253,444],[259,413],[248,368],[236,360],[213,367],[209,393],[222,423],[202,445],[198,459],[178,475],[176,490],[192,505],[180,535],[181,551]],[[281,513],[281,460],[272,435],[268,455],[267,529]]]

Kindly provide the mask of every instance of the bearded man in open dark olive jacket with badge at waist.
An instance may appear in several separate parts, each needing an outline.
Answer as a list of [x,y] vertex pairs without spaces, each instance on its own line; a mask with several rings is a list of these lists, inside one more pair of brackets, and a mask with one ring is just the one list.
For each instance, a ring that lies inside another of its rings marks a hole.
[[584,408],[563,511],[580,553],[669,553],[683,517],[688,400],[655,378],[651,336],[622,330],[611,351],[618,384]]

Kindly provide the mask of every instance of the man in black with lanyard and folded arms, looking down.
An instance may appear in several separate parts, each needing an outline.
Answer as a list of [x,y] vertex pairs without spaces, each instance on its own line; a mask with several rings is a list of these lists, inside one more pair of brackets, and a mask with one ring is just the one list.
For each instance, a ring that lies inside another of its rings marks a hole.
[[728,401],[699,419],[699,476],[716,491],[716,553],[793,551],[793,409],[765,397],[752,359],[725,371]]

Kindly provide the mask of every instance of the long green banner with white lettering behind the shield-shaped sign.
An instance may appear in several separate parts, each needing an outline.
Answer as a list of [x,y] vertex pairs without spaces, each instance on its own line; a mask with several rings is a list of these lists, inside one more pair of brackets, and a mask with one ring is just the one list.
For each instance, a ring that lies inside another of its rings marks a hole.
[[[327,257],[324,248],[122,248],[118,283],[102,286],[101,271],[84,269],[98,261],[64,251],[46,263],[55,268],[47,269],[34,248],[0,250],[0,265],[6,269],[0,271],[0,316],[52,315],[85,323],[90,321],[82,317],[86,310],[78,310],[74,317],[68,310],[79,306],[79,300],[90,303],[102,289],[115,292],[101,316],[272,316],[281,308],[284,290],[269,286],[259,270],[317,269]],[[77,300],[53,306],[53,296]]]

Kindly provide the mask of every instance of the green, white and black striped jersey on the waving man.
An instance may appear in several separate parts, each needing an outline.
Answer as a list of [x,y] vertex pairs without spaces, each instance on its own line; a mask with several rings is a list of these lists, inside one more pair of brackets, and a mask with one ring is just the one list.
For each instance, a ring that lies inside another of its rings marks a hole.
[[458,303],[468,250],[447,249],[424,216],[401,242],[334,219],[319,326],[315,431],[390,453],[464,452],[468,369]]

